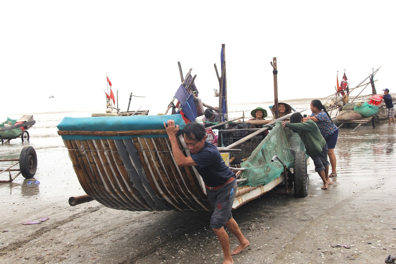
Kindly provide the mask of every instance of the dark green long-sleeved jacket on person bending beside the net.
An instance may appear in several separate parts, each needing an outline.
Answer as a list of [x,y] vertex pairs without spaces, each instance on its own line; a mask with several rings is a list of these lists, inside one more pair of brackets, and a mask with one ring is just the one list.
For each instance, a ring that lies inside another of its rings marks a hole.
[[304,123],[286,123],[286,127],[291,128],[293,132],[299,134],[308,156],[320,154],[323,146],[326,145],[326,141],[322,137],[318,126],[310,119]]

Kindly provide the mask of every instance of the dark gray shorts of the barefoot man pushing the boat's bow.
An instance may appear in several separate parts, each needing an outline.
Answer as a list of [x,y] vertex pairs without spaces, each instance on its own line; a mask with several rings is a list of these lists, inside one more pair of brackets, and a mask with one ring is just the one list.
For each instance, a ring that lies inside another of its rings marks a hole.
[[231,219],[231,209],[235,199],[236,186],[236,179],[234,179],[232,182],[217,190],[209,190],[206,188],[209,202],[214,209],[212,217],[210,218],[211,228],[221,228]]

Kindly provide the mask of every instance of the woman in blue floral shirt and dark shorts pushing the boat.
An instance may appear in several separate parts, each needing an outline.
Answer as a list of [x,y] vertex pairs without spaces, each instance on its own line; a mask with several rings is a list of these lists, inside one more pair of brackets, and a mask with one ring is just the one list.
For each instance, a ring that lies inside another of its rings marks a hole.
[[322,133],[327,143],[327,155],[331,164],[329,177],[335,177],[337,176],[337,160],[335,158],[334,148],[338,138],[338,127],[331,121],[330,115],[327,113],[326,107],[323,106],[322,102],[317,99],[312,100],[310,106],[312,114],[309,117],[305,117],[304,120],[311,119],[318,125],[320,133]]

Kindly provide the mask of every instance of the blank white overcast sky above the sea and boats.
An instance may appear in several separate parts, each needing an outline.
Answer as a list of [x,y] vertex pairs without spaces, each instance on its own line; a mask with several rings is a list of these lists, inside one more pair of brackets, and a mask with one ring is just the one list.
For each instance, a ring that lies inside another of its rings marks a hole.
[[354,87],[380,66],[377,91],[392,93],[394,10],[392,1],[3,1],[3,107],[49,95],[103,101],[106,72],[119,97],[164,98],[166,107],[177,61],[183,74],[193,68],[204,101],[218,89],[222,43],[233,103],[273,99],[272,57],[280,100],[325,97],[337,70]]

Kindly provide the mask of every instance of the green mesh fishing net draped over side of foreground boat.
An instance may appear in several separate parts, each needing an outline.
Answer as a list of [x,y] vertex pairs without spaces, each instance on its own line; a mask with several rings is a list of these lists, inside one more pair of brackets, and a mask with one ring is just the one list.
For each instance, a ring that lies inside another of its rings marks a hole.
[[250,157],[241,165],[245,171],[241,178],[246,178],[238,186],[257,186],[267,184],[279,177],[283,172],[283,165],[272,158],[278,156],[287,167],[294,166],[294,154],[297,151],[305,151],[304,143],[297,133],[291,129],[284,129],[282,122],[277,121],[271,132],[253,150]]

